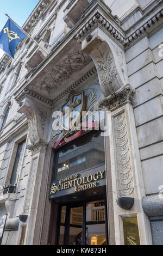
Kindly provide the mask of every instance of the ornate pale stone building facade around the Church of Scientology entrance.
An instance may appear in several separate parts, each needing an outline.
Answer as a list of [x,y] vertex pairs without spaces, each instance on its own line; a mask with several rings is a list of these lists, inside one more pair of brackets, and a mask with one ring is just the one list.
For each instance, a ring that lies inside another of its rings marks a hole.
[[[0,60],[3,245],[163,245],[162,7],[162,0],[36,5],[23,29],[48,54],[27,38],[14,59]],[[71,95],[84,95],[84,111],[106,136],[87,131],[59,141],[64,133],[53,129],[53,113]],[[63,170],[56,197],[55,172]],[[67,188],[73,173],[89,186],[76,186],[76,196]]]

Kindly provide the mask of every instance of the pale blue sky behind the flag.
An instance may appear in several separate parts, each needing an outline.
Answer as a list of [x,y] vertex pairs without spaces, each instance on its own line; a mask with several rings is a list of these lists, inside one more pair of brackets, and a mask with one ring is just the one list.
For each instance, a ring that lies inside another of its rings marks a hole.
[[[0,0],[0,31],[8,20],[5,13],[22,27],[38,2],[39,0]],[[0,49],[0,58],[3,54],[4,52]]]

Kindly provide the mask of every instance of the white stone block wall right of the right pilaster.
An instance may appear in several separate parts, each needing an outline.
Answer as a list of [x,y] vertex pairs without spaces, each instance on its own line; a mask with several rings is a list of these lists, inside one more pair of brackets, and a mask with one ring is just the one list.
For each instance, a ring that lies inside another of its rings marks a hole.
[[134,115],[146,194],[159,192],[162,172],[162,57],[163,29],[126,51],[129,83],[136,90]]

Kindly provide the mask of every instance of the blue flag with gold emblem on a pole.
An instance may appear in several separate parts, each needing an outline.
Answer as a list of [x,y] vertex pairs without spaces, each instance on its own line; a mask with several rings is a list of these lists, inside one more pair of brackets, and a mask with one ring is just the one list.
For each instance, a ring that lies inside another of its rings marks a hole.
[[18,43],[26,37],[27,35],[24,34],[14,22],[8,19],[0,33],[0,48],[14,58],[15,49]]

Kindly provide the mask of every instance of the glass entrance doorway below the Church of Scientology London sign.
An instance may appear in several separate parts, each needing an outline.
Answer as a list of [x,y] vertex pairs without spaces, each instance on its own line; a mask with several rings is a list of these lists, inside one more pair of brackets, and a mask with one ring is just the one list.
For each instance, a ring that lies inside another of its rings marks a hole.
[[57,245],[107,245],[105,200],[93,200],[59,209]]

